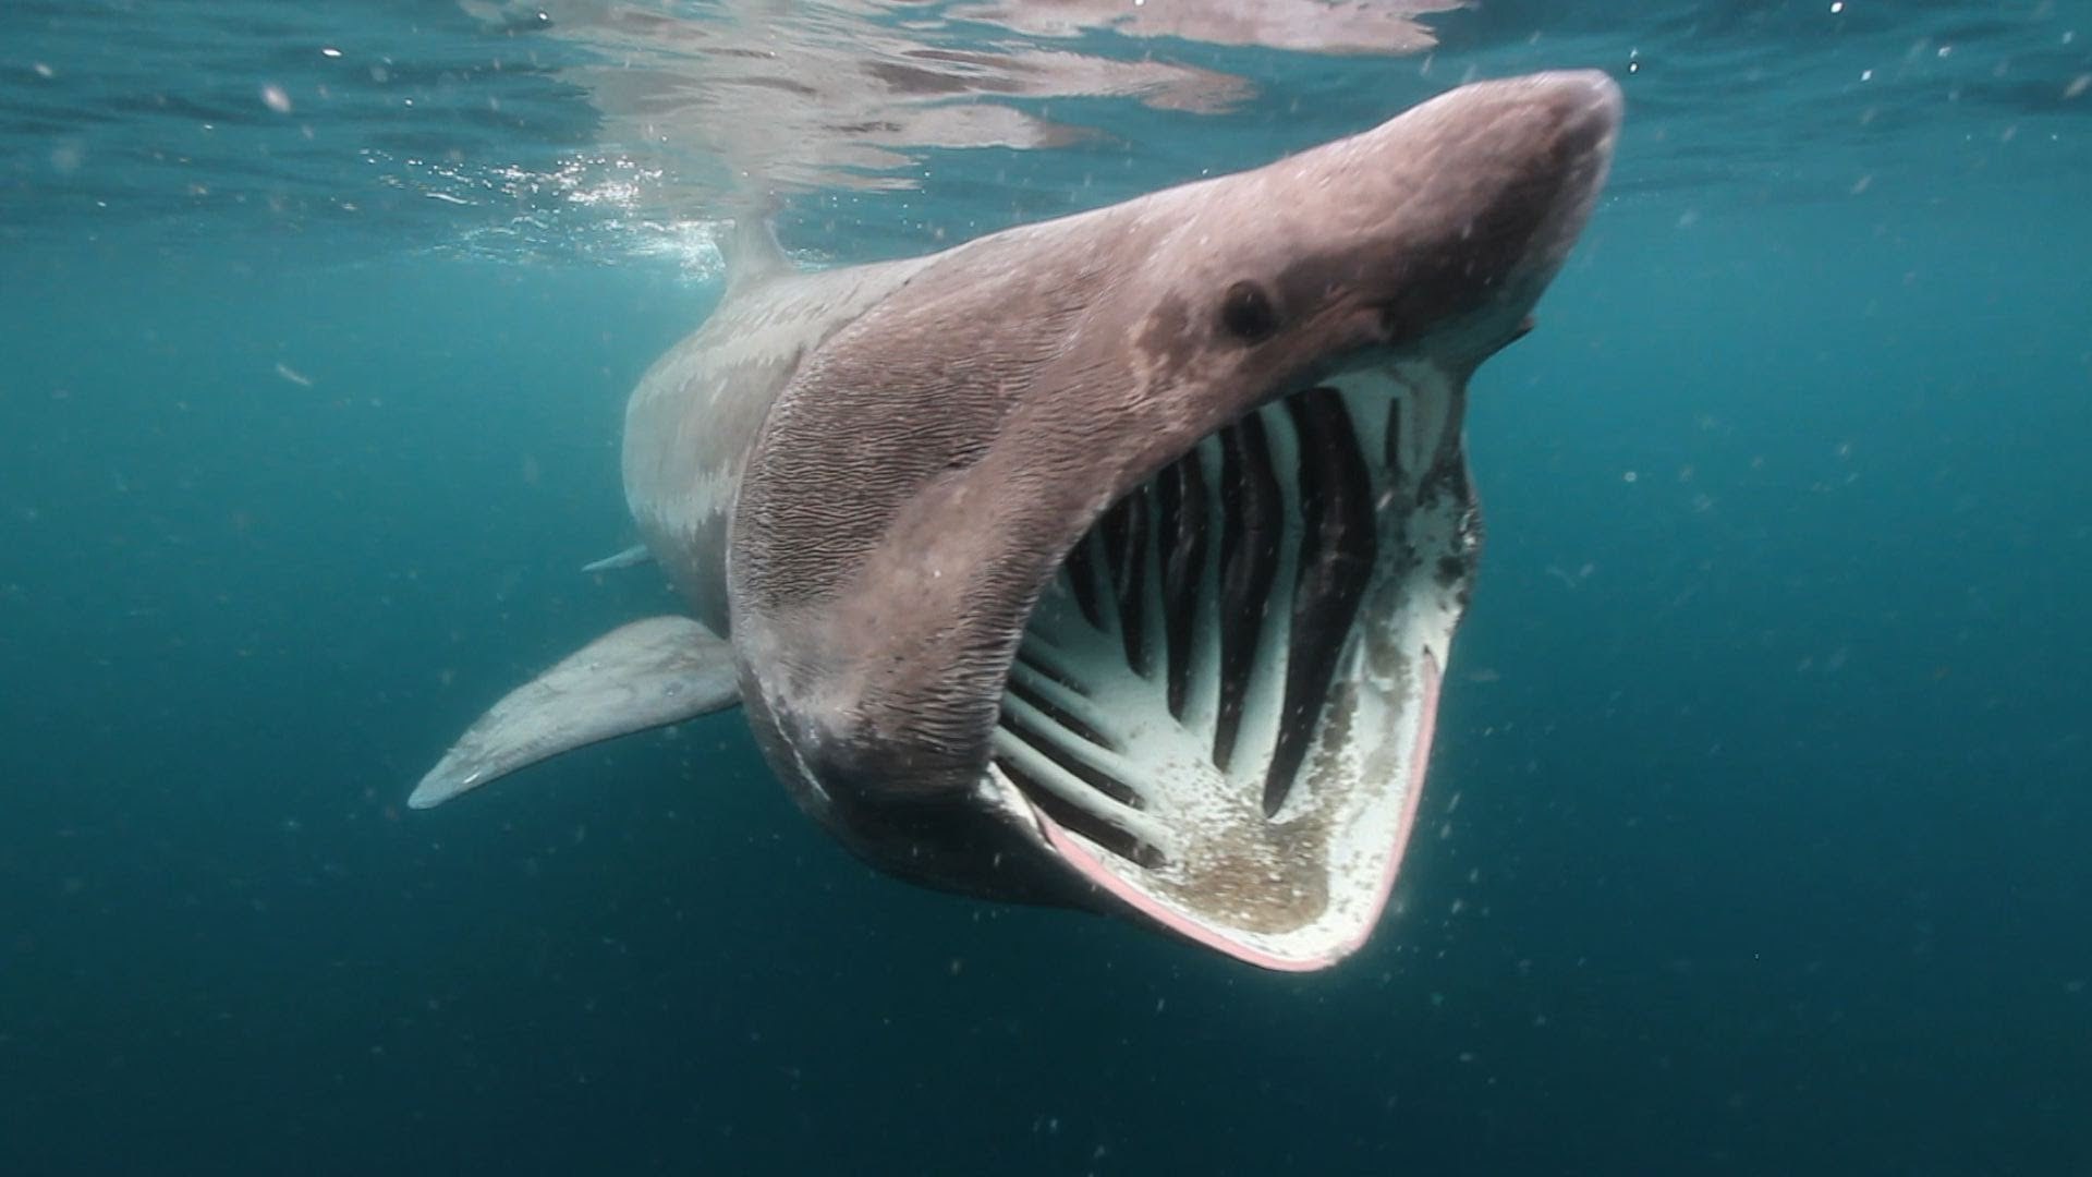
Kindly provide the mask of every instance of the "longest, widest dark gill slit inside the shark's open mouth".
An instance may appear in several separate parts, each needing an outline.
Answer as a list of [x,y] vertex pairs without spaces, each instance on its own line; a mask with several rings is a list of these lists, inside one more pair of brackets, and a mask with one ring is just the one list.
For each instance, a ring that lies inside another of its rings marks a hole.
[[1295,785],[1316,718],[1337,676],[1372,576],[1372,473],[1343,396],[1312,387],[1287,400],[1299,434],[1301,553],[1278,746],[1264,777],[1264,815]]

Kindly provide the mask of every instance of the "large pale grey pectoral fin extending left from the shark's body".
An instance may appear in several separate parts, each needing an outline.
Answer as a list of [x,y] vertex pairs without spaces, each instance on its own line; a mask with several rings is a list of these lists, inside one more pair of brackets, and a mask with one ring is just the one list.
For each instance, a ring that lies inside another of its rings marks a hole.
[[734,649],[711,630],[690,618],[632,622],[494,704],[406,804],[437,806],[525,764],[736,699]]

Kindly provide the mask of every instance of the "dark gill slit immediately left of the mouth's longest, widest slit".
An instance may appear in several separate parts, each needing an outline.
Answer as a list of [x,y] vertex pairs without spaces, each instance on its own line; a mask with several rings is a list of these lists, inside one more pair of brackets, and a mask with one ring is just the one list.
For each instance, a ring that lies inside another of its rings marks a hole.
[[1228,771],[1243,723],[1257,637],[1278,576],[1284,498],[1272,469],[1270,440],[1255,413],[1220,431],[1220,708],[1213,723],[1213,767]]

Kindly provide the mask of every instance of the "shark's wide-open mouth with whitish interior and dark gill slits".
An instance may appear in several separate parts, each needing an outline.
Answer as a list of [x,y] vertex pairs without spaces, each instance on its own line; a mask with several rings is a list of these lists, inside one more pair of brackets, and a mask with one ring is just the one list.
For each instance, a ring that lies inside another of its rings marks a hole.
[[1033,612],[985,800],[1107,903],[1274,970],[1387,905],[1479,521],[1462,381],[1274,400],[1107,511]]

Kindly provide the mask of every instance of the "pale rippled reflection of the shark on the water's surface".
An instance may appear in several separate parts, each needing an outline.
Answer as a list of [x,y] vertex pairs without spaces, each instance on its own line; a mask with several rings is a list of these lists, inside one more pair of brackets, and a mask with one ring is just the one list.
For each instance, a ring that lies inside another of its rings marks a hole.
[[[724,0],[642,6],[464,0],[508,29],[586,52],[563,71],[602,113],[602,142],[674,178],[690,207],[724,195],[910,188],[937,149],[1100,138],[1071,101],[1224,113],[1249,77],[1190,59],[1213,46],[1414,54],[1446,0]],[[1098,111],[1109,117],[1123,107]]]

